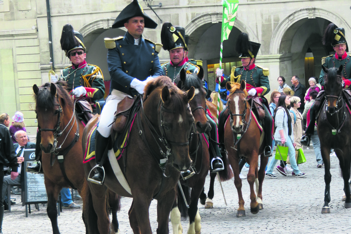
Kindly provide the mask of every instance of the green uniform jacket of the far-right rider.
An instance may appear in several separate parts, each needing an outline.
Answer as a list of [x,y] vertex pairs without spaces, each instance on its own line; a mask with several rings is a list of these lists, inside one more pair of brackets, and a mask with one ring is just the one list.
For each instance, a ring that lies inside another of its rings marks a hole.
[[[342,60],[339,60],[335,57],[336,55],[330,55],[328,57],[322,58],[322,65],[326,68],[331,68],[331,67],[336,67],[339,68],[340,65],[343,65],[343,80],[345,82],[345,87],[347,88],[350,83],[351,83],[351,59],[350,59],[350,55],[345,54],[342,56]],[[324,71],[322,69],[322,71],[320,71],[320,75],[319,75],[319,83],[320,85],[324,85]],[[348,82],[346,80],[349,80]],[[347,87],[346,87],[347,86]]]

